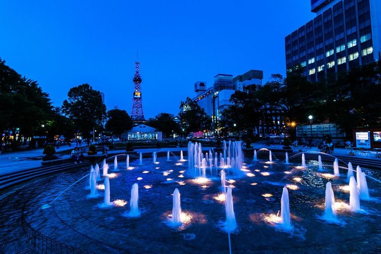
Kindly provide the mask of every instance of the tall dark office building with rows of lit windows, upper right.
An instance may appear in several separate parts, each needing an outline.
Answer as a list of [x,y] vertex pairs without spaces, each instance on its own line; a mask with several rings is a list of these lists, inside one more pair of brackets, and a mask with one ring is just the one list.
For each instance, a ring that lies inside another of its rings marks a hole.
[[309,81],[381,57],[380,0],[311,0],[316,17],[285,37],[286,68],[300,64]]

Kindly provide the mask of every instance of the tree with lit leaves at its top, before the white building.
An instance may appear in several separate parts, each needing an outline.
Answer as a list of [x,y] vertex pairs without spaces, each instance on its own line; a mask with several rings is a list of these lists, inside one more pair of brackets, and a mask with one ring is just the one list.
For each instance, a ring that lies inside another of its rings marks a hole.
[[197,102],[187,97],[184,102],[180,103],[179,108],[181,128],[183,128],[186,133],[202,131],[202,129],[210,130],[211,118]]

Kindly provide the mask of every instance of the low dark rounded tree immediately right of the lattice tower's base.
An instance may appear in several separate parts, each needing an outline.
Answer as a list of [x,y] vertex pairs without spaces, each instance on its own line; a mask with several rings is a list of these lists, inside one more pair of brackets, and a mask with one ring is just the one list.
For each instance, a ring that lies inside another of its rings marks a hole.
[[160,113],[156,115],[155,118],[149,118],[147,125],[162,132],[164,137],[169,137],[174,133],[180,133],[180,125],[175,122],[174,116],[169,113]]

